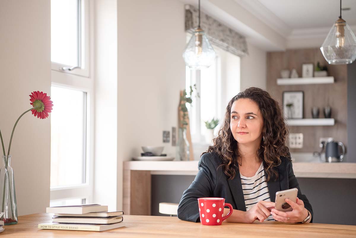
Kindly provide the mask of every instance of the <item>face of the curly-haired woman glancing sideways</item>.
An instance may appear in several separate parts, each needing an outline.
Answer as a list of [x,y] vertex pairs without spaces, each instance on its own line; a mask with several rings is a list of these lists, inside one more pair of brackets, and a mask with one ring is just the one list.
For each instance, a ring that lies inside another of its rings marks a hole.
[[262,129],[263,118],[255,102],[241,98],[232,103],[230,130],[238,143],[260,143]]

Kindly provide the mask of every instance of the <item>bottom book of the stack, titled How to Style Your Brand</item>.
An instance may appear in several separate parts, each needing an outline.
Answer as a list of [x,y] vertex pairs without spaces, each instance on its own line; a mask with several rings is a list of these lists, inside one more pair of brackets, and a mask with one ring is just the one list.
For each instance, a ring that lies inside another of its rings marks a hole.
[[93,224],[66,224],[66,223],[41,223],[38,224],[38,229],[51,230],[70,230],[70,231],[107,231],[124,227],[123,223],[114,223],[108,225],[93,225]]

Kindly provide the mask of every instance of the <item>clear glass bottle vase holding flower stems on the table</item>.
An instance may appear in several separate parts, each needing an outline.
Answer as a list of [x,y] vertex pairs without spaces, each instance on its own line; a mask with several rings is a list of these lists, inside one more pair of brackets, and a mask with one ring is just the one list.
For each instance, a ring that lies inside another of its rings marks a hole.
[[0,169],[0,202],[1,212],[4,212],[2,220],[5,225],[17,224],[17,204],[15,193],[14,170],[10,166],[11,155],[2,156]]

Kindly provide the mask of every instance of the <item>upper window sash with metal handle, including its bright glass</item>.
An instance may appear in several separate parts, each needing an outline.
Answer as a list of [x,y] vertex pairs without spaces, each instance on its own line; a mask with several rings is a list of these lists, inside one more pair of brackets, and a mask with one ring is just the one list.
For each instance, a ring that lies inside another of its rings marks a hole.
[[86,0],[51,0],[52,69],[89,76]]

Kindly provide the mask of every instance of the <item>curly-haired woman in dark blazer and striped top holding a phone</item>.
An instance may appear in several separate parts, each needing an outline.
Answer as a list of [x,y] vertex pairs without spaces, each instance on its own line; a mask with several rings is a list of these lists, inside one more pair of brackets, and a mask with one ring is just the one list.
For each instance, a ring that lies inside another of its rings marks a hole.
[[[225,222],[312,222],[312,206],[300,191],[285,146],[287,134],[281,109],[265,90],[252,87],[237,94],[213,146],[200,158],[197,176],[183,192],[178,218],[200,222],[197,198],[223,197],[234,208]],[[296,203],[286,200],[293,211],[275,210],[276,192],[290,188],[298,188]]]

